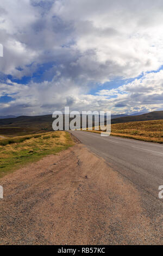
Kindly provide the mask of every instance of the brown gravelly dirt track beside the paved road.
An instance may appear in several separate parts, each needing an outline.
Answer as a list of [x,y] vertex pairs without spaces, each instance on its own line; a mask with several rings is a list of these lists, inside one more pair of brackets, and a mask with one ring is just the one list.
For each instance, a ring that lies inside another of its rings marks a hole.
[[[82,144],[0,180],[0,244],[161,244],[139,192]],[[158,225],[159,226],[159,225]]]

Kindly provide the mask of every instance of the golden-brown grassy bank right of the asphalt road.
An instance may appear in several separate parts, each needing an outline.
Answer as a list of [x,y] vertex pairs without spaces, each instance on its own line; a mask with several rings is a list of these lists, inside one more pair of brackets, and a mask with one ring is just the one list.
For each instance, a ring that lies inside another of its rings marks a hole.
[[[101,131],[92,131],[101,133]],[[111,135],[163,143],[163,120],[136,121],[111,125]]]

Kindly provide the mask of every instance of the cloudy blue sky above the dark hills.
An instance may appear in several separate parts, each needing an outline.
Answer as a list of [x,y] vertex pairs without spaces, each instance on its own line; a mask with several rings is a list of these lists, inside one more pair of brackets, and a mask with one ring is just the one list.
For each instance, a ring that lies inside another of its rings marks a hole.
[[162,0],[1,0],[0,115],[163,109]]

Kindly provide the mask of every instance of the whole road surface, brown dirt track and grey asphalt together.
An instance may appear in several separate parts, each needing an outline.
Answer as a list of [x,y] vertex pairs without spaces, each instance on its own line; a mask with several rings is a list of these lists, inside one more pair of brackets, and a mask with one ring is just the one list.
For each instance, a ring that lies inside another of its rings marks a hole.
[[0,180],[0,245],[162,245],[161,145],[72,133]]

